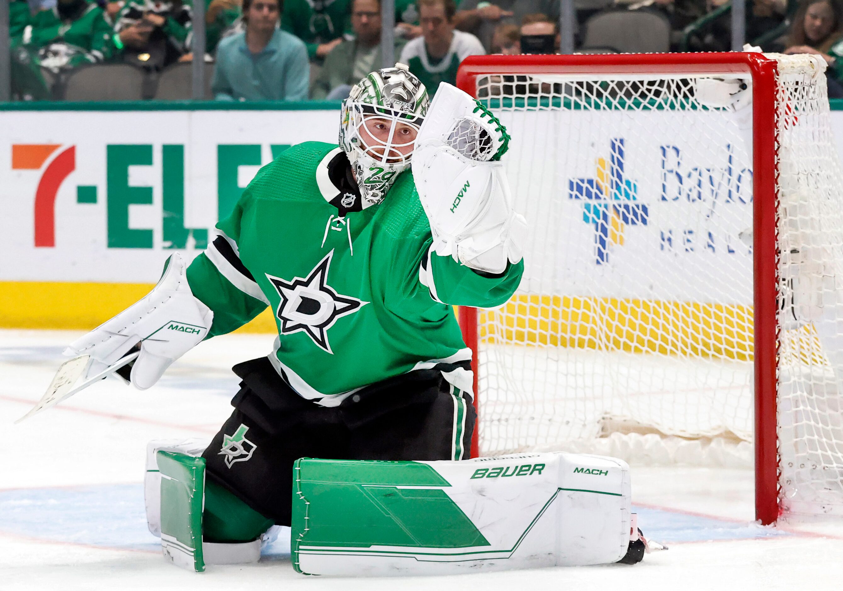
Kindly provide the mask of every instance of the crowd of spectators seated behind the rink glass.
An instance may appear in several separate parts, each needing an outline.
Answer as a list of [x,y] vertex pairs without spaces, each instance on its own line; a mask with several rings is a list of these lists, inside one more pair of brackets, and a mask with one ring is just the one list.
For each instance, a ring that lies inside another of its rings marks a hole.
[[[4,1],[4,0],[0,0]],[[212,66],[218,100],[342,99],[381,67],[381,2],[395,2],[393,55],[432,93],[466,56],[559,51],[560,0],[207,0],[196,51],[191,0],[11,0],[13,96],[61,99],[81,67],[129,64],[156,76],[179,62]],[[813,53],[843,96],[843,0],[747,0],[745,39],[765,51]],[[669,30],[665,51],[727,51],[728,0],[574,0],[577,51],[593,19],[645,12]],[[623,19],[618,21],[623,26]],[[620,36],[620,35],[619,35]],[[642,50],[643,51],[643,50]],[[149,97],[144,97],[149,98]]]

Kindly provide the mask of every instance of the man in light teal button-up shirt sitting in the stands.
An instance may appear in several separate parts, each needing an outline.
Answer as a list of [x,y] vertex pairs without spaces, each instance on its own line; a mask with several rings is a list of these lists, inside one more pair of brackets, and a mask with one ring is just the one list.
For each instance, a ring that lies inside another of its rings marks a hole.
[[310,65],[298,37],[278,29],[281,0],[243,0],[244,33],[217,46],[217,100],[306,100]]

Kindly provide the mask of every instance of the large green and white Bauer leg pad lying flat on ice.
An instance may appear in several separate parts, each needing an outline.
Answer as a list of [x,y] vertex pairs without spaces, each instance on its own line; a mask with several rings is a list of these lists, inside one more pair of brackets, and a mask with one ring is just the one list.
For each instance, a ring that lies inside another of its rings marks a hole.
[[294,475],[293,567],[305,574],[606,564],[630,543],[630,474],[620,459],[299,459]]

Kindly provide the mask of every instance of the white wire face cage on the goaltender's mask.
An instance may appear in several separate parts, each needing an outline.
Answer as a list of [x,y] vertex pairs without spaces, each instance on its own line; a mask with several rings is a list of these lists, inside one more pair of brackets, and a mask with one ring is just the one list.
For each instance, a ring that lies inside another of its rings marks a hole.
[[[368,103],[353,103],[349,105],[351,121],[349,126],[353,149],[360,155],[372,158],[384,169],[405,169],[410,164],[413,151],[402,153],[400,148],[406,148],[416,142],[423,118],[404,111],[389,109]],[[389,124],[389,136],[385,139],[376,137],[374,125]],[[410,126],[416,130],[416,136],[408,142],[395,142],[398,124]],[[371,127],[370,127],[371,126]],[[355,141],[356,140],[356,141]]]

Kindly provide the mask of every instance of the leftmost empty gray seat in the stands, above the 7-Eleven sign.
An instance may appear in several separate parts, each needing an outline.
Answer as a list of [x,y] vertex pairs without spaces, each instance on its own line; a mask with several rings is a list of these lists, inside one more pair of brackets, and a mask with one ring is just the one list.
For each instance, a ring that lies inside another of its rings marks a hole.
[[65,100],[141,100],[144,72],[125,63],[80,67],[67,76]]

